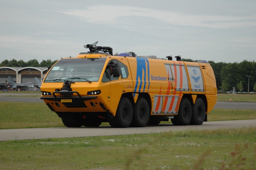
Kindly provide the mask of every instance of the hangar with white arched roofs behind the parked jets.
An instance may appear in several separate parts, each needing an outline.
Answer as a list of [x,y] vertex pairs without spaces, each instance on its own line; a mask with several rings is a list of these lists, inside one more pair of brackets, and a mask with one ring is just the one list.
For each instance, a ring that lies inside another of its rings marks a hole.
[[31,82],[36,84],[37,77],[41,82],[47,73],[47,67],[0,67],[0,82],[10,82],[8,76],[11,76],[16,83]]

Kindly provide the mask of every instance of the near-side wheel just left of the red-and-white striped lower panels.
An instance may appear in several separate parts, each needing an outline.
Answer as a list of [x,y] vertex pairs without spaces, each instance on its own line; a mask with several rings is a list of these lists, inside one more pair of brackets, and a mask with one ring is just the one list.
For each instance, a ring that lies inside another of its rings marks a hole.
[[131,127],[144,127],[149,119],[149,106],[145,98],[139,97],[133,105],[133,116]]

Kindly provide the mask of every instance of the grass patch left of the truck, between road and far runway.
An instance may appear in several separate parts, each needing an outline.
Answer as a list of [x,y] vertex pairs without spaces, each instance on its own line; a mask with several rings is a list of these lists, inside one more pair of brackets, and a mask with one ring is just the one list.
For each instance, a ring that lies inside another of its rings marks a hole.
[[63,127],[44,103],[0,102],[0,129]]

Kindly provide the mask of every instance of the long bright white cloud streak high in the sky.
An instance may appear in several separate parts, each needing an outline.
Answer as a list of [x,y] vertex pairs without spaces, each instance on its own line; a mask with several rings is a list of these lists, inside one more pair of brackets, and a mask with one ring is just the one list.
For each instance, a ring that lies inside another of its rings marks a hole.
[[182,26],[196,26],[208,28],[234,28],[256,26],[256,16],[229,17],[213,15],[189,15],[185,13],[153,10],[140,7],[99,5],[85,10],[57,11],[59,13],[76,16],[91,23],[114,25],[122,22],[124,17],[147,17],[164,23]]

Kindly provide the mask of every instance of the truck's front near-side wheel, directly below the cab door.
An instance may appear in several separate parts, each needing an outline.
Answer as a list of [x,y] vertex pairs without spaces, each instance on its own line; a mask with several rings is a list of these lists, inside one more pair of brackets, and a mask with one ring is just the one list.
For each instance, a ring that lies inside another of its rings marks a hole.
[[132,103],[127,97],[119,101],[116,116],[108,115],[108,121],[113,128],[127,128],[132,122]]

